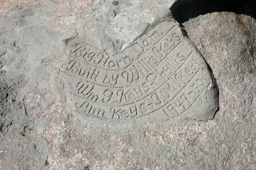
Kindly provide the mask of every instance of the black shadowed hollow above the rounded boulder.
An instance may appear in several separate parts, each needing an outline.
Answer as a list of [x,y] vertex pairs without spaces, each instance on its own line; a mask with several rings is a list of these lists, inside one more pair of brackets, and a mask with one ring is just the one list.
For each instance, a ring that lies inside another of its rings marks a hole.
[[255,4],[255,0],[178,0],[170,10],[179,23],[199,15],[223,11],[246,14],[256,19]]

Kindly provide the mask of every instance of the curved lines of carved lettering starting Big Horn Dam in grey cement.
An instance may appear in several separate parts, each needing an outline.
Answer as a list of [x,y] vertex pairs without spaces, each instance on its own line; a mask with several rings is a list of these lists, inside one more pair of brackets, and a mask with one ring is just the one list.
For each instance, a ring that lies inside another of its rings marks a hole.
[[177,25],[155,27],[115,55],[71,40],[61,74],[80,113],[119,120],[190,109],[207,86],[201,56]]

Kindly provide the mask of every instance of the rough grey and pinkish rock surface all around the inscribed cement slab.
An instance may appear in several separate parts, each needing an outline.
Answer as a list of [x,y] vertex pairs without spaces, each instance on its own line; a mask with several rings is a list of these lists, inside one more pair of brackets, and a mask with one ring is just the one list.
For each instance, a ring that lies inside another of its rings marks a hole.
[[63,39],[119,53],[173,4],[112,2],[0,2],[0,169],[256,169],[253,5],[177,1],[173,16],[212,69],[219,110],[207,122],[130,124],[86,120],[55,90]]

